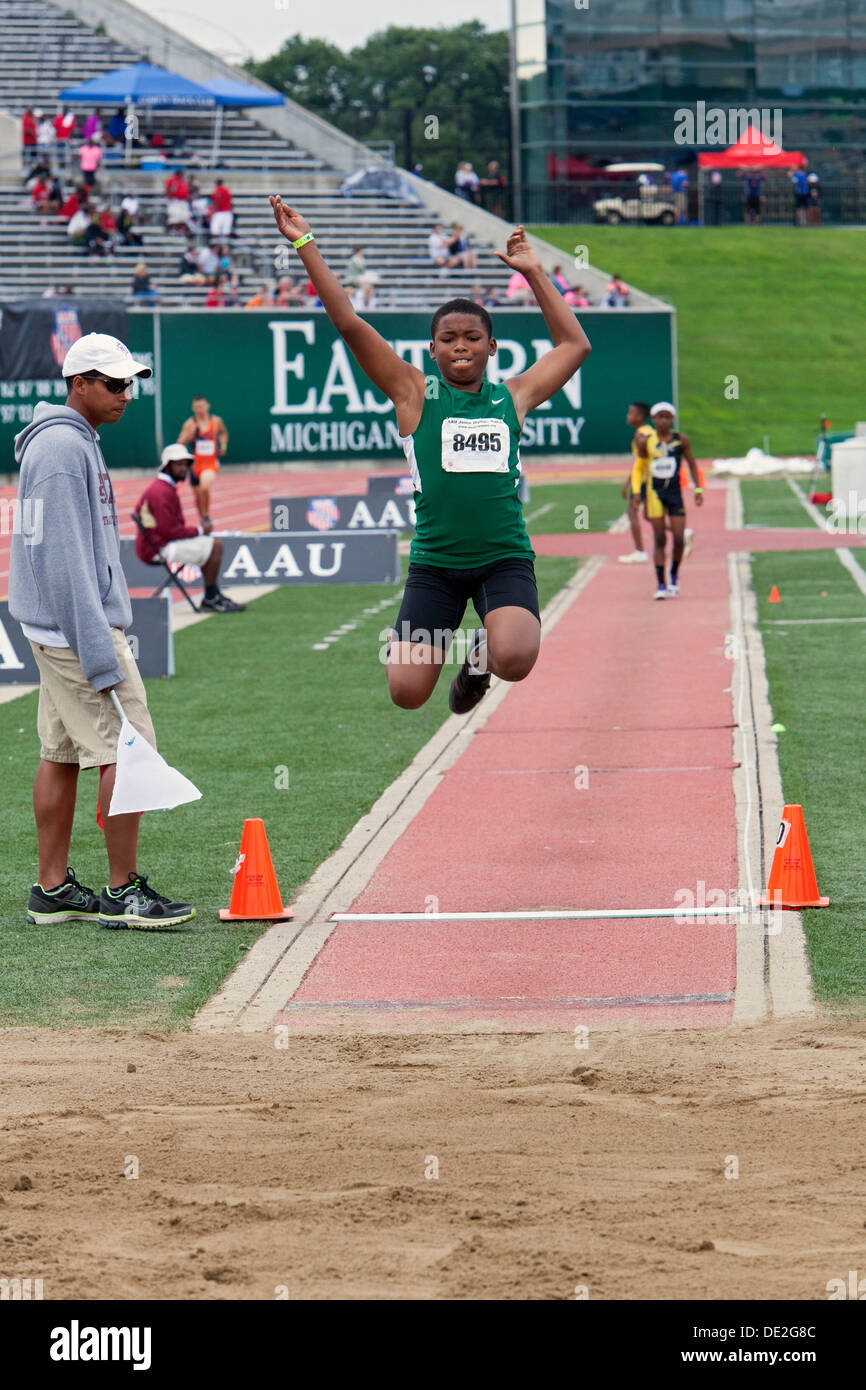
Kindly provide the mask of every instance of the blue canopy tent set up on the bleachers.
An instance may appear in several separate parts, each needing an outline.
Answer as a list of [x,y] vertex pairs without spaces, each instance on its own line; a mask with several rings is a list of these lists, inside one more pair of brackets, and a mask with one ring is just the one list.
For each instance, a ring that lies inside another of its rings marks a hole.
[[[153,63],[133,63],[131,67],[103,72],[75,88],[64,88],[61,101],[88,101],[93,106],[125,106],[132,115],[136,106],[147,107],[210,107],[215,110],[214,147],[211,161],[215,163],[222,129],[222,108],[225,106],[282,106],[285,97],[278,92],[253,86],[249,82],[234,82],[229,78],[214,78],[213,82],[190,82],[178,72],[170,72]],[[132,146],[132,122],[126,122],[126,157]]]

